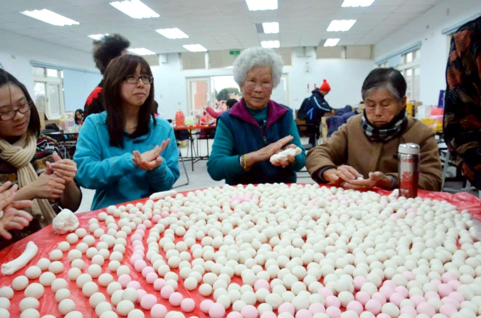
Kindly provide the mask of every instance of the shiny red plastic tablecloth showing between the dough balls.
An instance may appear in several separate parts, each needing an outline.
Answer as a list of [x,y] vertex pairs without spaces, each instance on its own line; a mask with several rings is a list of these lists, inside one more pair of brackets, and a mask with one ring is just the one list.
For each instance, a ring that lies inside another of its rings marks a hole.
[[[180,192],[180,193],[186,193],[186,192],[188,192],[188,191]],[[381,194],[386,194],[386,195],[390,193],[390,191],[385,191],[385,190],[380,190],[380,189],[378,189],[377,192],[379,192]],[[471,215],[473,217],[481,220],[481,200],[479,200],[474,195],[471,195],[469,193],[459,192],[459,193],[451,194],[451,193],[447,193],[447,192],[431,192],[431,191],[420,190],[418,195],[421,196],[421,197],[424,197],[424,198],[446,200],[446,201],[450,202],[451,204],[456,205],[459,210],[461,210],[461,209],[469,210],[469,212],[471,213]],[[147,200],[147,198],[144,198],[144,199],[140,199],[140,200],[126,202],[126,203],[123,203],[123,204],[127,204],[127,203],[135,204],[137,202],[144,203],[146,200]],[[78,214],[77,216],[80,220],[80,227],[84,227],[88,231],[88,220],[91,217],[97,215],[99,212],[104,211],[104,210],[105,209],[99,209],[99,210],[95,210],[95,211],[90,211],[90,212]],[[101,225],[102,228],[106,229],[105,223],[103,221],[99,221],[99,224]],[[37,261],[40,258],[42,258],[42,257],[49,258],[49,253],[53,249],[56,249],[57,243],[65,240],[66,236],[67,236],[67,234],[56,235],[53,232],[52,225],[49,225],[49,226],[41,229],[40,231],[38,231],[38,232],[20,240],[20,241],[12,244],[11,246],[6,247],[3,250],[0,250],[0,262],[4,263],[4,262],[10,261],[10,260],[16,258],[17,256],[19,256],[24,251],[25,246],[27,245],[27,243],[30,240],[33,240],[39,246],[39,252],[34,257],[34,259],[32,259],[30,261],[30,263],[27,264],[27,266],[25,266],[24,268],[17,271],[14,275],[4,276],[4,275],[0,274],[0,286],[7,286],[7,285],[10,286],[12,284],[12,280],[16,276],[24,275],[26,269],[29,266],[37,264]],[[144,240],[147,237],[148,237],[148,235],[146,234],[145,237],[144,237]],[[97,241],[96,241],[96,243],[97,243]],[[79,240],[79,242],[80,242],[80,240]],[[167,300],[162,299],[160,297],[160,293],[158,291],[154,290],[153,286],[151,284],[148,284],[144,281],[144,278],[142,277],[141,273],[135,271],[135,269],[133,268],[133,265],[131,265],[130,261],[129,261],[130,256],[132,255],[132,251],[133,251],[132,246],[130,244],[130,239],[127,239],[127,242],[128,242],[127,246],[126,246],[127,248],[126,248],[126,252],[124,254],[124,259],[123,259],[122,263],[130,267],[132,279],[139,281],[141,283],[141,286],[142,286],[141,288],[146,290],[148,293],[153,293],[153,294],[157,295],[158,303],[164,304],[165,306],[167,306],[167,308],[169,310],[181,311],[180,307],[173,307],[168,303]],[[72,244],[71,249],[74,248],[76,244],[77,243]],[[69,283],[68,288],[71,291],[70,298],[73,299],[76,302],[76,310],[81,311],[83,313],[84,317],[96,317],[95,310],[93,308],[91,308],[90,305],[89,305],[89,299],[82,294],[82,290],[77,287],[76,282],[70,281],[70,279],[68,278],[68,275],[67,275],[68,269],[70,269],[71,267],[70,267],[70,261],[67,258],[67,253],[68,252],[64,253],[64,258],[62,259],[62,262],[64,264],[64,272],[62,272],[60,274],[57,274],[57,278],[64,278]],[[160,253],[165,257],[165,253],[163,252],[162,249],[160,250]],[[85,254],[83,254],[83,259],[85,261],[84,270],[87,271],[87,268],[91,264],[91,262],[90,262],[90,259],[87,258],[87,256]],[[109,263],[109,260],[107,259],[105,261],[104,266],[103,266],[104,272],[110,272],[110,270],[108,269],[108,263]],[[178,274],[178,269],[175,269],[173,271],[175,271]],[[117,274],[115,272],[113,272],[112,275],[114,276],[114,280],[116,280]],[[97,283],[96,278],[94,278],[93,281]],[[179,278],[179,289],[177,291],[181,292],[184,297],[191,297],[191,298],[194,298],[195,301],[196,301],[196,307],[195,307],[194,311],[192,311],[190,313],[184,313],[184,314],[187,317],[188,316],[207,317],[207,315],[202,313],[199,309],[200,301],[202,301],[206,297],[201,296],[200,294],[198,294],[198,292],[192,292],[192,291],[186,290],[185,288],[183,288],[182,281],[183,281],[183,279]],[[242,284],[241,281],[242,280],[240,279],[240,277],[237,277],[237,276],[234,276],[233,279],[232,279],[232,282],[237,282],[237,283]],[[38,279],[30,280],[30,283],[32,283],[32,282],[38,282]],[[107,297],[107,301],[110,302],[110,297],[106,293],[106,287],[102,287],[102,286],[99,285],[99,291],[103,292]],[[12,304],[11,304],[11,307],[10,307],[10,313],[11,313],[12,317],[20,316],[19,302],[20,302],[20,300],[22,300],[23,297],[24,297],[23,291],[15,291],[14,297],[11,299]],[[212,299],[212,297],[207,297],[207,298]],[[40,300],[39,311],[42,315],[43,314],[53,314],[55,316],[62,316],[58,311],[58,303],[55,300],[55,294],[52,292],[50,287],[45,287],[45,294],[39,300]],[[140,305],[136,304],[136,308],[140,308]],[[149,310],[144,310],[144,312],[145,312],[146,317],[150,317]]]

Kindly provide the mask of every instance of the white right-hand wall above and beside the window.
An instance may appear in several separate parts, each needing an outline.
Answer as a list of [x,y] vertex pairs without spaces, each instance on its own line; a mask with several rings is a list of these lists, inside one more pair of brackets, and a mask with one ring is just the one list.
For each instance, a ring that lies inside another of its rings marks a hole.
[[420,99],[424,105],[437,105],[439,90],[446,88],[449,52],[448,36],[441,31],[476,13],[481,13],[480,0],[444,0],[377,43],[374,60],[421,41]]

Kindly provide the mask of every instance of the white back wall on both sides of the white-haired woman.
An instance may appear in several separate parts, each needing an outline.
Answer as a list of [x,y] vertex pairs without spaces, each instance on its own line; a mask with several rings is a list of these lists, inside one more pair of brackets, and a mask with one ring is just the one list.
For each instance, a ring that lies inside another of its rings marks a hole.
[[[310,65],[308,72],[306,61]],[[303,99],[310,96],[314,83],[319,86],[323,78],[331,85],[331,92],[326,99],[332,107],[357,104],[361,100],[362,82],[375,66],[372,59],[316,59],[315,55],[299,57],[293,53],[292,65],[284,66],[283,70],[288,74],[288,105],[299,108]],[[182,70],[177,53],[167,54],[167,62],[153,66],[152,72],[155,78],[155,100],[165,118],[173,118],[179,109],[187,112],[186,78],[232,75],[232,69],[229,68]]]

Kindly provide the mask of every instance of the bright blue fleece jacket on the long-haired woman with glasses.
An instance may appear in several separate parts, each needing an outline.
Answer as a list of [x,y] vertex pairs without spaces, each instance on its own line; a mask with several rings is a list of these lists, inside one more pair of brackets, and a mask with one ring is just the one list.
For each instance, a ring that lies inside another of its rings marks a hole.
[[[110,145],[106,118],[105,111],[87,117],[80,129],[74,155],[78,168],[76,180],[83,187],[96,190],[91,209],[140,199],[172,188],[179,177],[179,151],[170,124],[156,118],[154,125],[150,118],[147,134],[131,138],[124,131],[124,147],[119,148]],[[158,167],[146,171],[134,164],[133,150],[145,152],[167,138],[170,143],[160,154],[163,161]]]

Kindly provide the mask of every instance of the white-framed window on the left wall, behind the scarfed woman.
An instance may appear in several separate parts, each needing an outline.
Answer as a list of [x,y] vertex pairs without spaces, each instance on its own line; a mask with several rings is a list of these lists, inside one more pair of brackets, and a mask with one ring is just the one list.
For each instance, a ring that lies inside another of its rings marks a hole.
[[64,113],[63,71],[61,69],[33,66],[33,99],[39,111],[49,119],[59,119]]

